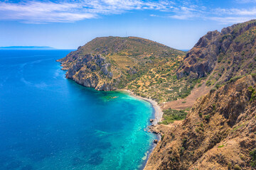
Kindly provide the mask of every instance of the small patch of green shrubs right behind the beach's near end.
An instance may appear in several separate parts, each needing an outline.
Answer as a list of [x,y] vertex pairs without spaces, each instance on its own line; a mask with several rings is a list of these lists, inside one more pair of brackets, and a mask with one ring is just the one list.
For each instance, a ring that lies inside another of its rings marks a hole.
[[168,125],[174,123],[174,120],[183,120],[186,118],[187,112],[185,110],[177,111],[171,108],[164,110],[164,120],[160,124]]

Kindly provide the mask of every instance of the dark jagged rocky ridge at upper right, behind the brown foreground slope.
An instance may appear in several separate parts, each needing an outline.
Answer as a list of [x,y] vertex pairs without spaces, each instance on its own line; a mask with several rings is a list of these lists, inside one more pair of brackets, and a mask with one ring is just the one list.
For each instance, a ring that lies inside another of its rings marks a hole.
[[210,31],[187,53],[176,73],[177,78],[207,77],[210,83],[255,72],[256,20]]

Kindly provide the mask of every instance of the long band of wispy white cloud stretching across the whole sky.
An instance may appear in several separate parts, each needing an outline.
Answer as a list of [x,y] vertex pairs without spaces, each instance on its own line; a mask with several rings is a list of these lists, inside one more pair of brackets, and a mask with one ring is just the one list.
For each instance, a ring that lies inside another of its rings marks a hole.
[[[198,0],[200,1],[200,0]],[[134,10],[161,11],[151,14],[178,20],[210,19],[219,23],[237,23],[256,16],[255,8],[215,8],[209,9],[198,1],[186,0],[65,0],[0,2],[0,20],[23,23],[75,22],[102,15],[119,14]],[[237,0],[235,0],[237,1]],[[249,3],[256,0],[241,0]]]

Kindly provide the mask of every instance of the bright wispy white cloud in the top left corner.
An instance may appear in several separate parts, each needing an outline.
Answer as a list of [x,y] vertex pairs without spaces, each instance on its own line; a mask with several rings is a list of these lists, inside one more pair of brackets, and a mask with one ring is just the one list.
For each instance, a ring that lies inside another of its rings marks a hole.
[[18,20],[24,23],[73,22],[95,18],[93,13],[73,12],[78,4],[28,2],[26,4],[0,3],[1,20]]

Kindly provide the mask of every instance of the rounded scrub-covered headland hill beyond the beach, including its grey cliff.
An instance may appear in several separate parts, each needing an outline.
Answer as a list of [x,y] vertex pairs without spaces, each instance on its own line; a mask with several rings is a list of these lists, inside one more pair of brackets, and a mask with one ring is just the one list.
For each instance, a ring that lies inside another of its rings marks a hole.
[[129,89],[156,101],[186,96],[191,82],[176,81],[184,52],[143,38],[95,38],[63,59],[68,79],[101,91]]

